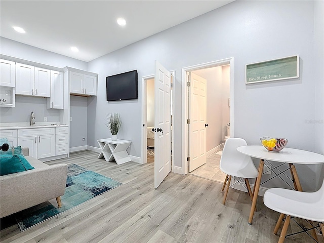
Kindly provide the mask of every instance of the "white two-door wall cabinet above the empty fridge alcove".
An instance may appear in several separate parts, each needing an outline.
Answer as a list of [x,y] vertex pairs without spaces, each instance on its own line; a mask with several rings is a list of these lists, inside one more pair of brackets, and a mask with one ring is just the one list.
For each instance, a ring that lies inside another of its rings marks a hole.
[[97,77],[79,73],[69,72],[70,94],[87,96],[97,95]]

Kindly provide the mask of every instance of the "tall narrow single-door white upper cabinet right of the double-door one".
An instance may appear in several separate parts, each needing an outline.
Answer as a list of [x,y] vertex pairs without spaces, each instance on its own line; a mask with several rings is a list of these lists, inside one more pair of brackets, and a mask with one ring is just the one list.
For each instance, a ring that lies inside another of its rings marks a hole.
[[51,97],[47,98],[48,109],[64,108],[64,73],[51,71]]

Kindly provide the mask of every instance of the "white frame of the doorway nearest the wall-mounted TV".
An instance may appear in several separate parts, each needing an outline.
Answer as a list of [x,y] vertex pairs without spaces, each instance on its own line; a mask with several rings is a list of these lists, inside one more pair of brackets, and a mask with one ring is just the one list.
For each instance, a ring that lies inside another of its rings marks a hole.
[[[174,119],[174,97],[175,97],[175,70],[170,71],[171,77],[172,77],[172,115]],[[147,133],[146,133],[146,128],[147,128],[147,80],[148,79],[154,79],[154,74],[152,75],[147,75],[147,76],[142,76],[142,138],[141,138],[141,144],[142,144],[142,152],[141,152],[141,164],[146,164],[147,163]],[[155,100],[155,97],[154,97]],[[145,124],[145,126],[143,126]],[[174,121],[172,120],[172,124],[174,124]],[[172,125],[173,126],[173,125]],[[173,163],[173,158],[174,158],[174,126],[172,127],[172,157],[171,157],[171,170],[173,172],[174,170],[174,163]]]

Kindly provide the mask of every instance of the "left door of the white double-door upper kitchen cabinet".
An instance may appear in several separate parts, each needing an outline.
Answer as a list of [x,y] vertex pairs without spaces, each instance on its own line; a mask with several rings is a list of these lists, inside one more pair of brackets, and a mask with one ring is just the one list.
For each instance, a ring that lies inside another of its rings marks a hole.
[[16,95],[34,95],[35,67],[16,63]]

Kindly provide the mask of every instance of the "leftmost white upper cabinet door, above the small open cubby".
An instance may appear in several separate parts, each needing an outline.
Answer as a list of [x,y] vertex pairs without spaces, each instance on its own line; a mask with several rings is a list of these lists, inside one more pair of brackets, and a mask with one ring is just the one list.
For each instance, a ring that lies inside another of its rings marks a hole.
[[15,87],[16,63],[0,59],[0,86]]

